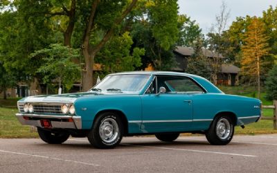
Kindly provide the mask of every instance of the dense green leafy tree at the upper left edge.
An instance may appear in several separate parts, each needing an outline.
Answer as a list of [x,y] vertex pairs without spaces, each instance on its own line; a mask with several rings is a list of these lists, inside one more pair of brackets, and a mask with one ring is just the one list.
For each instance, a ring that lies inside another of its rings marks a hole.
[[[29,55],[35,50],[48,46],[57,36],[45,15],[39,15],[47,6],[44,1],[12,1],[10,8],[0,12],[0,58],[8,73],[17,78],[17,82],[30,82],[35,71],[41,66],[41,60]],[[37,15],[30,15],[36,13]]]

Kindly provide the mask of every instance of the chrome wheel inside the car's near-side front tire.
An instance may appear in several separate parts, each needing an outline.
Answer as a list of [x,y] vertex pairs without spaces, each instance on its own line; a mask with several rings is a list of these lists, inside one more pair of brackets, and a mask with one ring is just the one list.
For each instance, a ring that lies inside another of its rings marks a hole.
[[103,120],[99,127],[100,138],[105,143],[112,143],[118,137],[118,124],[116,120],[107,118]]

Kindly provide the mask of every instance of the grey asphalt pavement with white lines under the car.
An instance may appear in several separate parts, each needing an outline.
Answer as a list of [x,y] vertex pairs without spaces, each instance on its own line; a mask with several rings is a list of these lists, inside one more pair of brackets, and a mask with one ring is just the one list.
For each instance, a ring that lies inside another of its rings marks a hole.
[[96,149],[87,138],[0,139],[0,172],[277,172],[277,134],[234,136],[225,146],[204,136],[126,137],[115,149]]

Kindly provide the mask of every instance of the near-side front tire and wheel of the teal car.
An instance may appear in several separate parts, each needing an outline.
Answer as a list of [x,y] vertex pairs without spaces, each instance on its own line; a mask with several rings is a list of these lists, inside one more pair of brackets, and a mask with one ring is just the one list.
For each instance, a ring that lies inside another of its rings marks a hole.
[[101,113],[93,122],[87,138],[89,143],[97,148],[116,147],[123,138],[123,123],[120,117],[114,112]]

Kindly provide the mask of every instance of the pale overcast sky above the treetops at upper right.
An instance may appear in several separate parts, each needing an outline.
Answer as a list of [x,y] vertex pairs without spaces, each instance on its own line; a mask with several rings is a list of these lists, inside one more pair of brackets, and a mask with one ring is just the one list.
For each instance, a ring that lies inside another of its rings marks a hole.
[[[277,0],[225,0],[230,10],[229,26],[236,17],[262,16],[262,11],[269,6],[277,6]],[[202,28],[203,33],[208,33],[212,24],[215,24],[215,15],[220,14],[222,0],[179,0],[179,13],[188,15]]]

